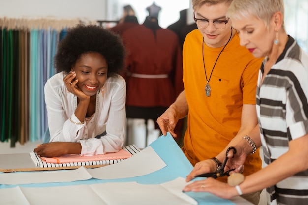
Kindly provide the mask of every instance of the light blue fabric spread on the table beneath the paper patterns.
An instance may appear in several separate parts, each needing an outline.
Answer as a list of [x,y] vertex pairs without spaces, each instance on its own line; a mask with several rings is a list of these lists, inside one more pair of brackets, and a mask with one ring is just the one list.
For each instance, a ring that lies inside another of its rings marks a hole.
[[[50,186],[67,186],[79,184],[94,184],[94,183],[107,183],[107,182],[130,182],[136,181],[140,184],[160,184],[171,181],[181,176],[186,178],[190,173],[193,166],[190,164],[180,147],[177,145],[173,137],[168,133],[166,136],[160,136],[150,145],[160,158],[167,164],[166,167],[144,176],[137,176],[131,178],[121,179],[94,179],[73,182],[61,183],[44,183],[44,184],[25,184],[22,187],[50,187]],[[149,159],[151,160],[151,159]],[[65,172],[65,171],[62,171]],[[124,171],[123,171],[124,172]],[[5,174],[5,173],[4,173]],[[0,184],[0,188],[14,187],[14,185]],[[197,200],[198,205],[235,205],[229,200],[220,199],[209,193],[193,193],[187,192],[189,196]]]

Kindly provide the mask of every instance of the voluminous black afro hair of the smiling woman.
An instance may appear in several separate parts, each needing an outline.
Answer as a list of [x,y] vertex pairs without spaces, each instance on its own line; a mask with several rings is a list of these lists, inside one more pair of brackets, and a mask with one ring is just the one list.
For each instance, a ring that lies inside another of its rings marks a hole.
[[57,72],[70,72],[71,66],[87,52],[97,52],[108,63],[108,77],[119,74],[124,67],[125,48],[120,36],[94,25],[78,25],[70,29],[59,43],[55,55]]

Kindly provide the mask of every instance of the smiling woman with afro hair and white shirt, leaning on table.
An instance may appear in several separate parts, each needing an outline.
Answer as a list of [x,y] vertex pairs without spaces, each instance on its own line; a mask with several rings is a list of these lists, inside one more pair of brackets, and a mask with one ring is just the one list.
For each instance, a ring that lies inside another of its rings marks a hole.
[[34,151],[43,157],[118,152],[126,120],[120,36],[101,26],[77,25],[59,42],[54,63],[57,74],[44,87],[46,143]]

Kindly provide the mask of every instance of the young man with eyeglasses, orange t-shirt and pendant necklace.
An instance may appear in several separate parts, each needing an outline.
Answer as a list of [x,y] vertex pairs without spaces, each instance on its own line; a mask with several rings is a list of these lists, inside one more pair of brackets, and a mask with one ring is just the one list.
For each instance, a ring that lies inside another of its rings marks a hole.
[[[258,123],[255,93],[262,59],[240,46],[239,34],[226,18],[231,2],[192,0],[198,29],[190,32],[184,42],[185,89],[157,119],[164,135],[170,132],[176,137],[176,123],[188,116],[182,150],[195,167],[187,181],[215,172],[227,148],[236,145]],[[249,143],[248,136],[244,140]],[[244,163],[244,176],[262,169],[259,150],[254,152]],[[260,193],[243,197],[258,204]]]

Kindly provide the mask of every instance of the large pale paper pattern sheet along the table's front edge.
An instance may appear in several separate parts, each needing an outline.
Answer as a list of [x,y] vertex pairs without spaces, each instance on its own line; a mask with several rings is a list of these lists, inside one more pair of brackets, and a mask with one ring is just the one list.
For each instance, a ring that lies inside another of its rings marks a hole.
[[[137,182],[100,183],[58,187],[14,187],[0,189],[1,205],[19,198],[22,205],[54,205],[51,196],[65,205],[197,205],[182,192],[186,185],[183,177],[162,184],[139,184]],[[79,197],[76,197],[79,196]],[[121,196],[121,197],[119,197]],[[22,201],[23,200],[23,201]]]

